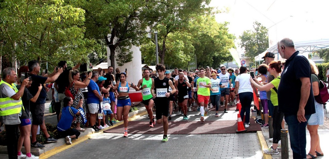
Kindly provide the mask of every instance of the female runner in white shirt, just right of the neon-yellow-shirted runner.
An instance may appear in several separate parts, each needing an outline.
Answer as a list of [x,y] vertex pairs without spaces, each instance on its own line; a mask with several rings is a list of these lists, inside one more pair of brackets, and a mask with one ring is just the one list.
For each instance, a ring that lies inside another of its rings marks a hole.
[[217,71],[211,70],[211,74],[213,75],[213,78],[210,79],[211,81],[211,88],[210,88],[210,100],[213,106],[216,107],[216,114],[215,117],[219,117],[218,115],[218,109],[219,109],[219,100],[220,100],[220,92],[219,87],[223,87],[222,83],[220,82],[220,79],[216,77]]

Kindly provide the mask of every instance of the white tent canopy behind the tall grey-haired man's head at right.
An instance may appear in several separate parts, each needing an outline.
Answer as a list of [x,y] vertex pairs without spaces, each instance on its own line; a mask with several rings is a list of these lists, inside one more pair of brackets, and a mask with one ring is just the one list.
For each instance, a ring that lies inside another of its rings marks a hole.
[[[295,42],[295,49],[299,51],[300,53],[309,53],[314,52],[319,49],[325,49],[329,48],[329,39],[319,39],[319,40],[310,40],[310,41],[301,41],[301,42]],[[272,52],[275,55],[276,60],[282,60],[281,56],[278,53],[277,44],[271,46],[263,53],[259,54],[255,57],[255,61],[261,61],[263,60],[262,57],[264,57],[266,52]]]

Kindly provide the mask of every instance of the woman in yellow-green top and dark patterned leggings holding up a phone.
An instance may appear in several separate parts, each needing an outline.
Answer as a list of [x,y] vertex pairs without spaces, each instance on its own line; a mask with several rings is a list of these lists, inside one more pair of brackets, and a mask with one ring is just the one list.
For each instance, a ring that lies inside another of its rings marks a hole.
[[273,145],[264,150],[266,154],[279,154],[277,149],[278,143],[281,139],[280,135],[280,127],[283,119],[283,112],[279,111],[279,104],[278,104],[278,94],[277,89],[280,83],[280,73],[281,73],[281,61],[272,61],[268,65],[268,72],[274,76],[274,79],[263,85],[257,79],[250,79],[250,82],[258,88],[260,91],[271,91],[271,102],[274,105],[273,110]]

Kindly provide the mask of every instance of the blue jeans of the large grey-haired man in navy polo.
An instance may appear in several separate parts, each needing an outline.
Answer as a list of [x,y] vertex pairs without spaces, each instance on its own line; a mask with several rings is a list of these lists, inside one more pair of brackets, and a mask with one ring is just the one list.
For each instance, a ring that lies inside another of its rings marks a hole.
[[[305,115],[306,120],[311,115]],[[297,115],[285,115],[285,121],[288,124],[288,132],[290,137],[290,147],[294,159],[306,158],[306,125],[307,122],[299,123]]]

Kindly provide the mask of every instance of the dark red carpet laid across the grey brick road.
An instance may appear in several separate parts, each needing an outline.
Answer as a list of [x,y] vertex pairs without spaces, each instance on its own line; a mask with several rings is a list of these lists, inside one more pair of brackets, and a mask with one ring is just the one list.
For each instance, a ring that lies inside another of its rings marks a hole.
[[[207,118],[206,118],[207,120]],[[156,124],[149,127],[149,122],[131,121],[128,124],[128,133],[130,134],[163,134],[163,125]],[[250,118],[250,126],[247,132],[261,131],[259,124],[254,123]],[[174,121],[169,122],[168,134],[225,134],[236,133],[237,121]],[[123,133],[123,124],[105,130],[107,133]]]

